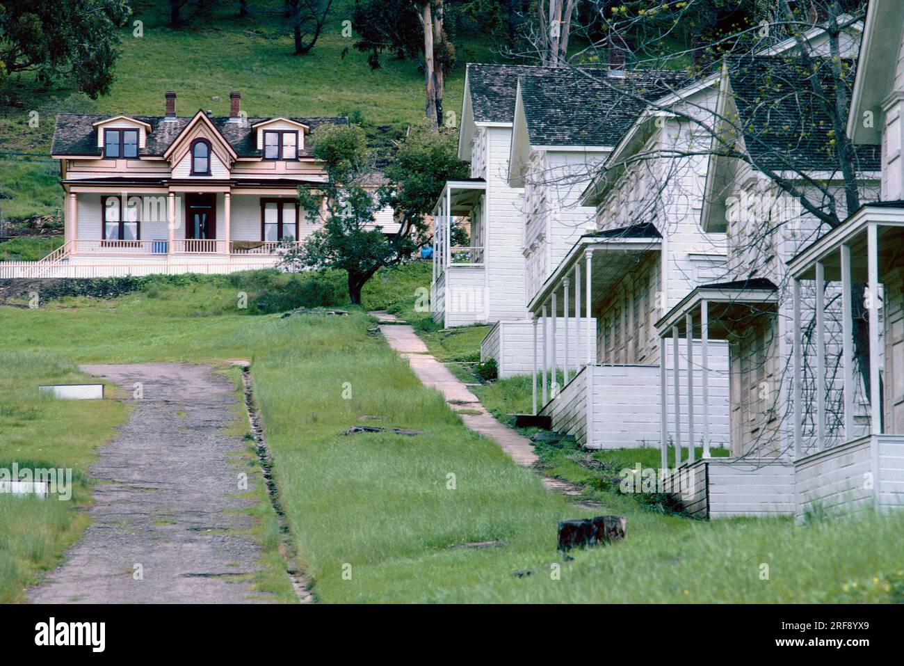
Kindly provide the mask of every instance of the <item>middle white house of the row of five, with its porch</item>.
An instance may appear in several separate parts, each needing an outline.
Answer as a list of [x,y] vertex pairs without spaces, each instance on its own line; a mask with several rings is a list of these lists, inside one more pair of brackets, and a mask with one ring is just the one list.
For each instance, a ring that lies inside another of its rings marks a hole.
[[[706,115],[718,94],[719,77],[711,76],[656,100],[627,128],[580,198],[595,207],[594,230],[563,252],[528,305],[538,331],[535,411],[586,448],[658,445],[661,356],[654,322],[724,270],[725,234],[700,226],[705,157],[692,149],[687,157],[665,157],[701,140],[697,125],[657,110]],[[550,337],[553,326],[564,327],[564,344]],[[694,410],[698,423],[708,414],[711,441],[723,443],[729,439],[727,349],[713,344],[708,352],[709,402],[704,409],[698,389]],[[685,349],[680,362],[687,362]],[[553,380],[553,368],[563,372],[563,385]],[[699,368],[694,375],[700,386]],[[678,433],[671,434],[677,441]]]

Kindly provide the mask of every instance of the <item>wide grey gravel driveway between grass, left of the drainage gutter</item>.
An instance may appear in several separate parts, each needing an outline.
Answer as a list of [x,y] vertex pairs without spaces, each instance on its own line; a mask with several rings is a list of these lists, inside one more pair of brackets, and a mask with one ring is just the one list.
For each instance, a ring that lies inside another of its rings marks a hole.
[[[62,566],[34,588],[34,603],[254,603],[259,547],[238,499],[247,445],[224,428],[239,404],[231,382],[207,366],[82,366],[121,385],[131,418],[99,451],[92,519]],[[143,396],[134,399],[136,383]],[[249,486],[255,482],[250,477]],[[136,580],[135,566],[142,579]]]

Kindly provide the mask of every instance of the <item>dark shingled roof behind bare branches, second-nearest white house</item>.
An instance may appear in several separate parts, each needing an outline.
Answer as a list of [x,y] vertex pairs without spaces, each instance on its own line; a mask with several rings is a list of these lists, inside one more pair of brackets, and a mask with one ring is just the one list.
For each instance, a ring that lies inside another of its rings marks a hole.
[[[747,55],[728,59],[745,143],[759,166],[776,170],[837,169],[832,120],[810,80],[818,76],[826,93],[833,95],[830,61],[813,60],[819,64],[815,74],[796,57]],[[854,71],[852,61],[843,61],[842,66],[845,71]],[[848,100],[851,84],[845,81]],[[880,168],[879,147],[859,146],[856,151],[857,170]]]

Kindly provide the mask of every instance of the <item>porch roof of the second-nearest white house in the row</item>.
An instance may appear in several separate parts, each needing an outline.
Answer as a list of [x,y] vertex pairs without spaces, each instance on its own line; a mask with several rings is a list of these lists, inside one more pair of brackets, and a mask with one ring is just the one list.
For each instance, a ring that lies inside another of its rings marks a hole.
[[656,332],[666,336],[674,327],[686,338],[687,315],[691,315],[692,328],[700,330],[703,301],[707,303],[708,337],[724,340],[749,328],[755,319],[774,314],[778,288],[766,278],[702,284],[655,323]]

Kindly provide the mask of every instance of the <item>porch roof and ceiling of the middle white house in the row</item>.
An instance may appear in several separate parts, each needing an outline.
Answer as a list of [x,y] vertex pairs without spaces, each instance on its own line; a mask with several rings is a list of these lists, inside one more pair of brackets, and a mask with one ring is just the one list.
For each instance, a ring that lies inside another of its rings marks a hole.
[[[574,312],[574,269],[580,264],[581,306],[587,299],[587,262],[586,253],[590,252],[590,306],[596,311],[608,300],[612,289],[622,281],[625,275],[636,269],[647,257],[662,250],[659,238],[599,238],[585,236],[575,244],[554,273],[543,284],[542,289],[531,300],[528,310],[537,316],[541,315],[544,303],[550,304],[552,293],[557,294],[556,314],[565,314],[563,298],[565,279],[570,278],[570,310]],[[547,309],[547,314],[551,310]],[[582,315],[583,315],[582,311]]]

